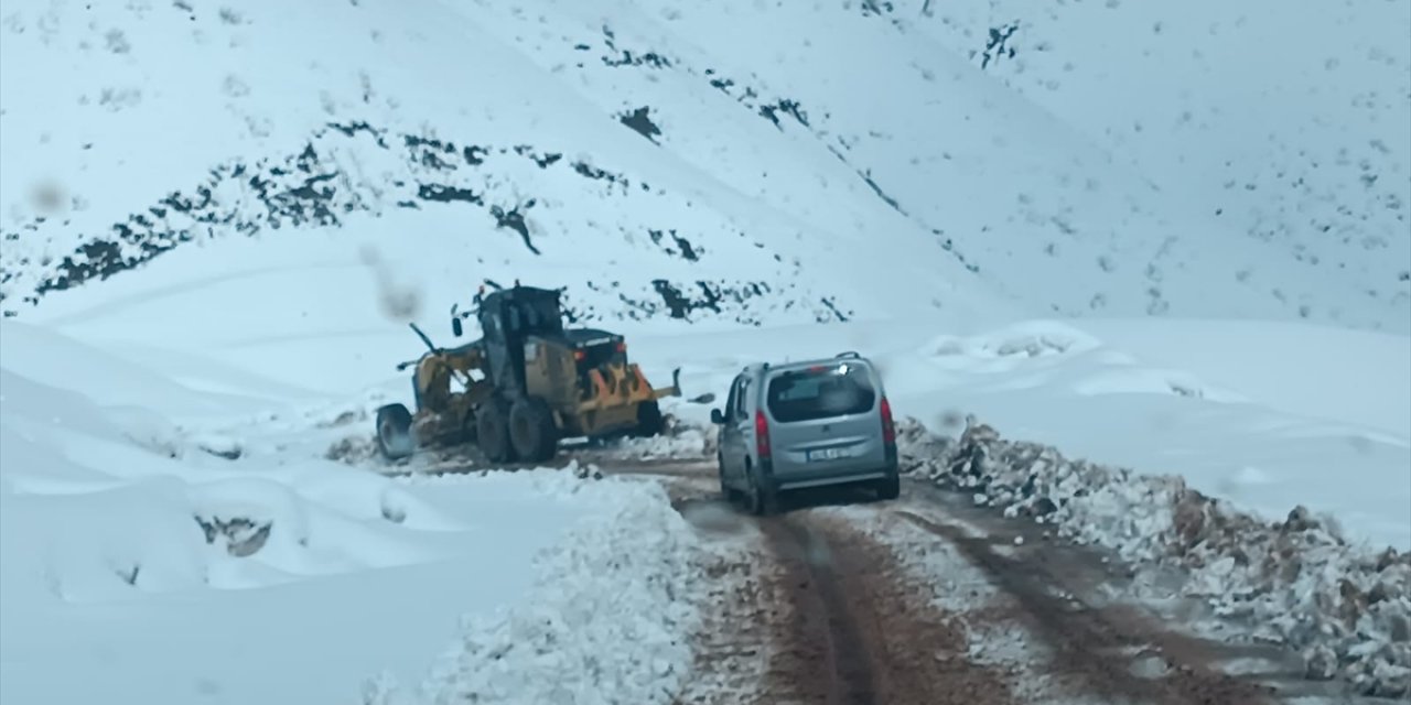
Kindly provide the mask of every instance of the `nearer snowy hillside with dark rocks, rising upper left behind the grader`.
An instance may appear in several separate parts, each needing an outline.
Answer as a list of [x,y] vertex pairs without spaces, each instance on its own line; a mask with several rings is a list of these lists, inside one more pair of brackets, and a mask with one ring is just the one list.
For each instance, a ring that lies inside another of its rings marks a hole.
[[[701,127],[734,125],[762,147],[751,168],[790,165],[832,186],[797,185],[789,206],[704,172],[625,125],[625,107],[604,107],[583,78],[536,66],[439,3],[6,11],[4,202],[23,213],[27,189],[49,183],[69,207],[6,228],[8,310],[185,240],[337,224],[374,231],[385,250],[429,234],[416,278],[461,300],[483,281],[522,278],[569,285],[584,316],[835,320],[889,309],[896,295],[878,283],[893,278],[916,282],[906,292],[919,307],[971,298],[931,234],[856,197],[866,186],[845,165],[772,138],[769,121],[704,78],[680,96]],[[556,45],[580,61],[617,55],[597,23],[571,34]],[[20,69],[58,55],[58,75]],[[875,230],[890,231],[889,247],[858,257]]]

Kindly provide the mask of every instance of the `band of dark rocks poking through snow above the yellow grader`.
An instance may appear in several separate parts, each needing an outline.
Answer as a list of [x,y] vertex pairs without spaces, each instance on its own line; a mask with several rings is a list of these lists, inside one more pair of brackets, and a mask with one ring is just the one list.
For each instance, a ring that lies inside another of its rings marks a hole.
[[[746,92],[753,100],[753,92]],[[807,118],[796,103],[777,103],[787,114],[796,114],[801,123]],[[648,109],[626,116],[635,123],[635,116],[648,117]],[[653,133],[655,124],[636,124]],[[378,183],[368,183],[344,168],[347,154],[364,149],[385,149],[401,159],[404,175]],[[231,161],[212,168],[207,178],[189,189],[174,190],[159,200],[138,209],[124,220],[111,224],[100,233],[80,235],[75,250],[52,262],[32,262],[24,252],[0,251],[0,282],[11,286],[8,296],[0,296],[4,314],[14,316],[18,302],[38,303],[47,292],[62,290],[92,279],[106,279],[120,272],[141,266],[152,258],[185,243],[230,235],[257,235],[270,230],[288,227],[322,226],[337,227],[351,213],[378,214],[382,209],[422,207],[466,207],[480,209],[497,228],[508,228],[519,234],[526,250],[539,254],[532,240],[528,210],[539,199],[526,197],[518,203],[494,203],[491,186],[471,186],[466,172],[487,169],[499,155],[515,155],[533,161],[540,169],[569,168],[586,179],[605,182],[612,190],[621,188],[621,195],[631,193],[632,183],[622,173],[615,173],[584,161],[569,161],[562,152],[539,152],[531,145],[490,147],[453,142],[426,134],[399,134],[378,128],[365,121],[327,123],[315,130],[298,152],[284,158],[262,158],[257,161]],[[485,183],[494,183],[484,180]],[[477,180],[476,183],[481,183]],[[648,189],[645,183],[642,189]],[[484,189],[484,190],[483,190]],[[0,238],[14,241],[25,237],[44,237],[44,219],[23,223],[13,231],[0,233]],[[700,261],[706,248],[686,235],[662,228],[653,240],[669,254],[689,262]],[[14,254],[10,254],[14,252]],[[776,259],[779,257],[776,255]],[[32,278],[23,285],[16,279]],[[625,310],[614,312],[615,317],[643,320],[656,314],[689,319],[693,312],[708,312],[728,316],[738,323],[758,326],[762,323],[758,299],[789,296],[793,285],[775,288],[769,282],[725,282],[697,281],[673,283],[666,279],[650,282],[650,293],[618,293],[626,305]],[[591,286],[590,286],[591,288]],[[653,296],[655,295],[655,296]],[[785,300],[779,307],[785,312],[794,306],[807,307],[814,320],[847,320],[852,312],[838,305],[832,298],[810,295],[813,303],[803,298]],[[598,314],[591,307],[571,307],[569,314],[576,320],[590,320]]]

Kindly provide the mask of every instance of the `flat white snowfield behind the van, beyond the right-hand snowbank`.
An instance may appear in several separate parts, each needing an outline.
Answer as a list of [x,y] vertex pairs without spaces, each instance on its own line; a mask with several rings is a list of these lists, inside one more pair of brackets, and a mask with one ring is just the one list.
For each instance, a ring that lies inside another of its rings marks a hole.
[[[1068,457],[1180,475],[1268,520],[1298,505],[1353,540],[1411,550],[1411,338],[1312,324],[1033,320],[971,334],[900,323],[638,337],[686,396],[752,361],[858,350],[897,415],[967,415]],[[1229,354],[1223,354],[1223,352]],[[1184,361],[1189,360],[1189,367]],[[1284,374],[1280,375],[1280,371]],[[711,405],[676,403],[708,424]]]

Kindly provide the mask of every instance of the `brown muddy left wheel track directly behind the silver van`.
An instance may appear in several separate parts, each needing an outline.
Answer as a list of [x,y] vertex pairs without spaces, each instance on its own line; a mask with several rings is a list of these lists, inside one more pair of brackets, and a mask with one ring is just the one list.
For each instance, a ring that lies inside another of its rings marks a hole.
[[886,546],[831,517],[759,520],[792,619],[777,634],[772,688],[828,705],[1006,705],[1002,674],[909,585]]

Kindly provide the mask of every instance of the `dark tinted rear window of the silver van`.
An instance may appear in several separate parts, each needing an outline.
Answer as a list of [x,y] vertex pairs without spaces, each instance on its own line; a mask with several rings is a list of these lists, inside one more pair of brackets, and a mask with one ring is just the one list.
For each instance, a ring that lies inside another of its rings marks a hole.
[[866,369],[848,362],[783,372],[769,381],[766,393],[769,413],[783,423],[866,413],[873,402]]

